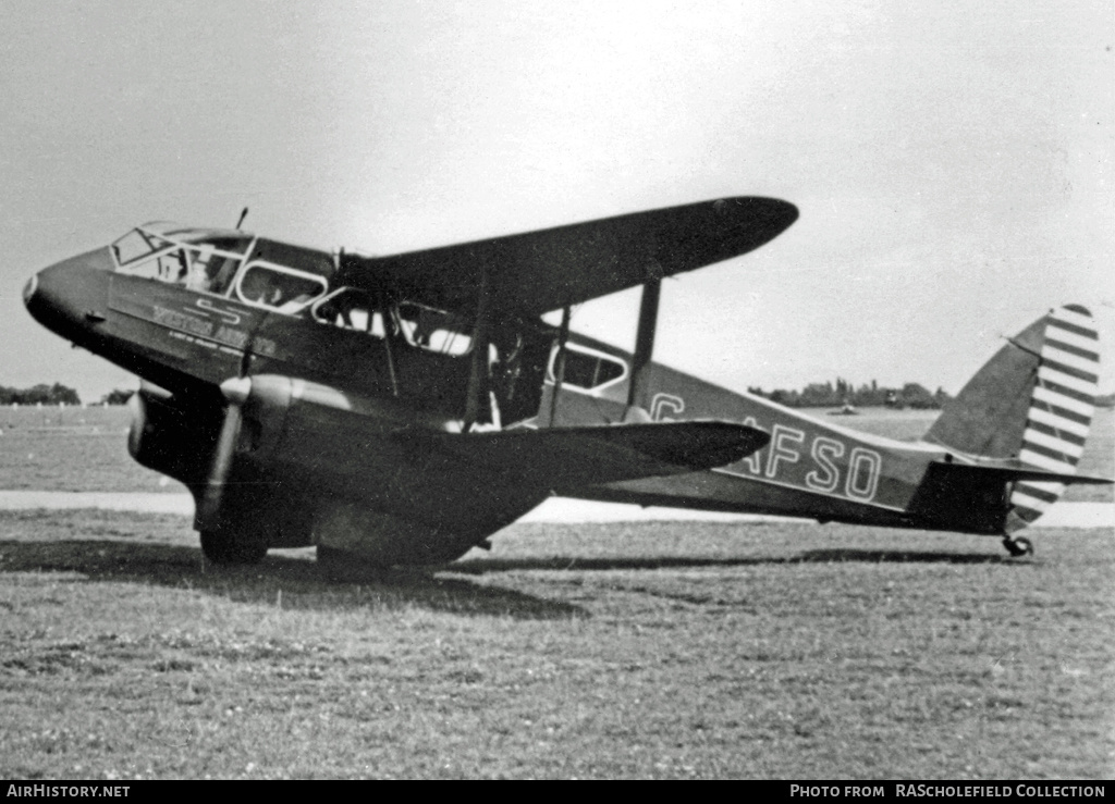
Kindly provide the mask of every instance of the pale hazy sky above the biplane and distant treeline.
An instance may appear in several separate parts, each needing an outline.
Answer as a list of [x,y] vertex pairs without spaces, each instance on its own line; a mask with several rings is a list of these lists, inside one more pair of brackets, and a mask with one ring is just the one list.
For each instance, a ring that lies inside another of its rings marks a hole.
[[[0,23],[0,385],[135,388],[22,285],[244,206],[389,254],[784,198],[777,239],[663,284],[656,359],[739,390],[954,393],[1053,306],[1115,330],[1108,0],[4,0]],[[630,347],[637,310],[573,327]]]

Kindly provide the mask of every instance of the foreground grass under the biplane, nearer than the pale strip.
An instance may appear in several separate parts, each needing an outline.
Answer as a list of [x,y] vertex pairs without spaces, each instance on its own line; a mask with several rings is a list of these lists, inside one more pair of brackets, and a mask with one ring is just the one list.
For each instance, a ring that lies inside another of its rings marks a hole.
[[1036,533],[516,526],[337,585],[0,513],[0,776],[1111,777],[1113,535]]

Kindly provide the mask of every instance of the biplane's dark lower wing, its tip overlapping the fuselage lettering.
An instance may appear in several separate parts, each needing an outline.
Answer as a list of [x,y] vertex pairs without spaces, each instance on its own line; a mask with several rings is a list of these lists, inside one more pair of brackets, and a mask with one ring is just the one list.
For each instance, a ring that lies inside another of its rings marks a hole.
[[481,433],[404,430],[395,438],[553,491],[723,467],[770,440],[756,428],[712,421]]

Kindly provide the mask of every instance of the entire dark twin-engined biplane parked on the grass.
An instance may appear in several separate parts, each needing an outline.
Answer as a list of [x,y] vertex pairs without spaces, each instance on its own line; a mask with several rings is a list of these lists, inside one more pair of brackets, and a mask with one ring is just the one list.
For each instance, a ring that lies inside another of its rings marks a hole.
[[[1076,473],[1098,365],[1077,305],[1009,339],[914,443],[653,363],[661,280],[796,218],[723,198],[384,257],[153,223],[39,272],[25,302],[142,379],[132,455],[190,488],[214,562],[309,545],[333,563],[452,560],[552,494],[1021,555],[1067,484],[1111,482]],[[571,305],[637,285],[633,354],[570,332]]]

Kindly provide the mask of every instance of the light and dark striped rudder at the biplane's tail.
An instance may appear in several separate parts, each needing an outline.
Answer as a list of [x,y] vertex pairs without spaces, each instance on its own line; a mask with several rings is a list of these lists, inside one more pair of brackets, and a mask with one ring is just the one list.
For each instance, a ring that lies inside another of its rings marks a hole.
[[[1076,474],[1099,381],[1099,337],[1092,314],[1070,304],[1045,317],[1037,378],[1018,459],[1027,465]],[[1061,483],[1018,481],[1005,530],[1032,523],[1064,492]]]

